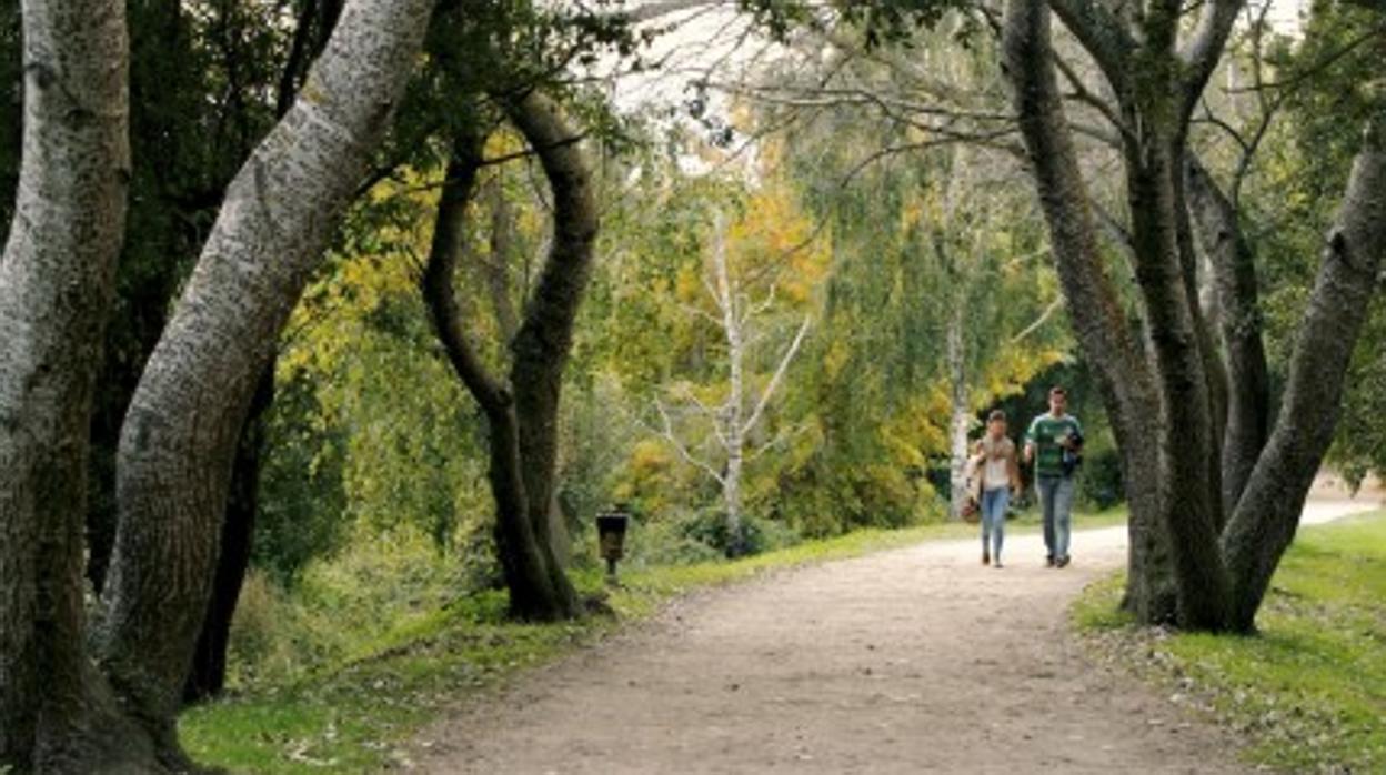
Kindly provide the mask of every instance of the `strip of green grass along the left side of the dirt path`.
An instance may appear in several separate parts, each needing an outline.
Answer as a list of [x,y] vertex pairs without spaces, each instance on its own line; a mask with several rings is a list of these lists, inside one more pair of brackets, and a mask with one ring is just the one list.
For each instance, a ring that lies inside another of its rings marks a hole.
[[[1125,513],[1117,509],[1080,514],[1076,527],[1124,520]],[[1012,524],[1019,532],[1034,531],[1038,517],[1021,516]],[[191,708],[183,714],[180,733],[195,760],[233,772],[371,771],[405,756],[407,740],[449,704],[493,689],[517,670],[553,660],[622,622],[649,617],[681,593],[923,541],[976,535],[977,527],[967,524],[862,530],[737,561],[633,570],[622,573],[615,589],[604,586],[599,571],[579,571],[574,574],[579,589],[604,598],[614,616],[571,624],[506,621],[502,593],[470,596],[371,636],[352,649],[355,657],[290,685],[255,688]]]

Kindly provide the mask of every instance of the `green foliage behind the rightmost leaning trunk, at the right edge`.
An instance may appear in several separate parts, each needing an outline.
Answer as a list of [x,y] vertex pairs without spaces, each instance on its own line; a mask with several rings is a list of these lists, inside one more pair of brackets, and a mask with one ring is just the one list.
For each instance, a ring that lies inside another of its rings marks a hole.
[[[1333,222],[1365,121],[1386,100],[1380,47],[1374,43],[1379,25],[1379,12],[1318,0],[1310,6],[1303,39],[1282,37],[1267,47],[1267,76],[1286,85],[1274,94],[1283,107],[1261,141],[1239,204],[1257,252],[1277,387],[1286,377],[1324,255],[1324,233]],[[1252,43],[1249,32],[1239,51],[1239,67],[1246,69],[1253,67]],[[1257,108],[1265,98],[1240,97]],[[1386,305],[1378,299],[1350,366],[1343,417],[1329,453],[1329,462],[1353,480],[1386,470],[1383,336]]]

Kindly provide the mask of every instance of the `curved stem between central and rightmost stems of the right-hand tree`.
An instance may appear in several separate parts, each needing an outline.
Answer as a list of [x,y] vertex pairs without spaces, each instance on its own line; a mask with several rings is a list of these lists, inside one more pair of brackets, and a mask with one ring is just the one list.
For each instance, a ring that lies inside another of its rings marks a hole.
[[1256,256],[1242,234],[1236,208],[1203,164],[1188,157],[1188,205],[1199,245],[1213,266],[1227,352],[1228,408],[1222,435],[1222,507],[1231,514],[1246,489],[1271,424],[1270,369],[1261,338]]

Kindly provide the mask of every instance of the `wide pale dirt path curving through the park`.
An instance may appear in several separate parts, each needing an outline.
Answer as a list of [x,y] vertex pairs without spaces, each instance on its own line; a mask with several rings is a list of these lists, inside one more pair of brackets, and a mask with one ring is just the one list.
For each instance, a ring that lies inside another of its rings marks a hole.
[[[1344,513],[1311,507],[1315,521]],[[1358,507],[1360,510],[1360,507]],[[1232,743],[1088,665],[1064,609],[1125,528],[1042,567],[936,542],[697,595],[421,738],[424,772],[1242,772]]]

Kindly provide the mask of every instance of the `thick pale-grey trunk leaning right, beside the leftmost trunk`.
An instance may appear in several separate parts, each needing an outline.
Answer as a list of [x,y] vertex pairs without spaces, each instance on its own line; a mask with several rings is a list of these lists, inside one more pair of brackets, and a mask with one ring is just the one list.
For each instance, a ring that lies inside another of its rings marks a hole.
[[276,337],[389,126],[432,0],[355,0],[227,189],[121,438],[100,659],[172,765],[236,442]]

